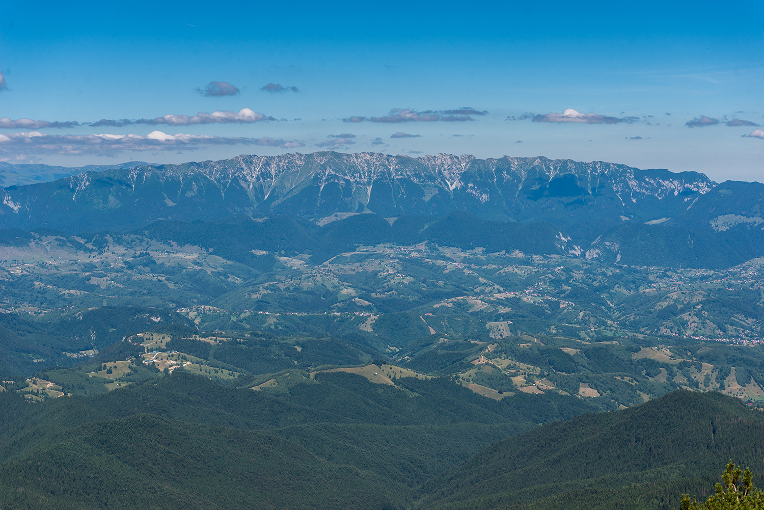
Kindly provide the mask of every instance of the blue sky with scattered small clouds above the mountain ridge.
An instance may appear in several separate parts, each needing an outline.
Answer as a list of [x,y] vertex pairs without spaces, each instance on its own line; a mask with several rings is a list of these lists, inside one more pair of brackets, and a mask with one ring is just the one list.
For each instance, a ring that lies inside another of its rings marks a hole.
[[764,180],[760,3],[48,3],[0,7],[4,161],[450,152]]

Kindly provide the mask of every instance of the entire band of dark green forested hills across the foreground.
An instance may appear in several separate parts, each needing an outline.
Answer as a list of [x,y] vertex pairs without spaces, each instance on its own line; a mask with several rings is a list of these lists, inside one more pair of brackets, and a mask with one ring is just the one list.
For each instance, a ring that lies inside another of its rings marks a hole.
[[762,416],[716,393],[554,422],[585,409],[300,373],[274,391],[177,373],[40,404],[2,392],[0,508],[669,510],[764,451]]

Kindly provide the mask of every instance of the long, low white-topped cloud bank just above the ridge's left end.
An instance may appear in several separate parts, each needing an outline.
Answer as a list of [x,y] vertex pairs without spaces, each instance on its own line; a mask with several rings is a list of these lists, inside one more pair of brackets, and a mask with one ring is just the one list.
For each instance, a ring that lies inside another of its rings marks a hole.
[[207,135],[167,135],[154,131],[141,135],[44,135],[40,132],[0,135],[0,160],[17,160],[19,155],[115,155],[127,151],[194,151],[210,145],[264,145],[303,147],[299,141],[274,138],[223,138]]

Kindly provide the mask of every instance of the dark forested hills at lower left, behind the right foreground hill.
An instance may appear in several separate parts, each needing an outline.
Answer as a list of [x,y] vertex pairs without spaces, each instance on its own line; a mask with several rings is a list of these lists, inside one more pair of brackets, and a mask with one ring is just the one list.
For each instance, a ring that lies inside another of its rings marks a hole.
[[270,377],[253,391],[176,371],[37,403],[2,391],[0,508],[406,508],[488,444],[596,409],[446,378]]

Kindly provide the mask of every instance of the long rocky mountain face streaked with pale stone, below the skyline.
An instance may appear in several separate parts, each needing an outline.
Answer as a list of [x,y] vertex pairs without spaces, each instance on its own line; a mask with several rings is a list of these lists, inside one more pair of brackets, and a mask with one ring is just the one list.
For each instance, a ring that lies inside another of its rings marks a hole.
[[232,213],[442,216],[549,221],[595,239],[623,221],[675,216],[715,183],[703,174],[547,158],[422,158],[378,153],[242,155],[222,161],[86,171],[0,190],[0,227],[122,230]]

